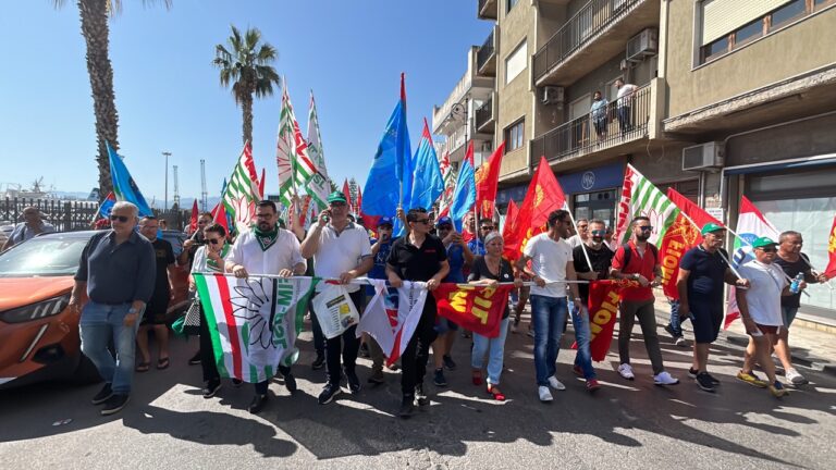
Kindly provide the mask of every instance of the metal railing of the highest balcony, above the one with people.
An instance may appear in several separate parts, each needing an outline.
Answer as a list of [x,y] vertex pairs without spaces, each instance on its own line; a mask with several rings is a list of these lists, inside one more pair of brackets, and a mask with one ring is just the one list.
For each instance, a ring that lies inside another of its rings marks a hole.
[[534,53],[534,82],[646,0],[591,0]]

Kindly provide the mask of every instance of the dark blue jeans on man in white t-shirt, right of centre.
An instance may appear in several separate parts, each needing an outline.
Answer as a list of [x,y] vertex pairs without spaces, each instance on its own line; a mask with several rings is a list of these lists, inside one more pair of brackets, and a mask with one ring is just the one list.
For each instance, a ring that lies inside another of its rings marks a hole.
[[537,384],[549,385],[556,372],[557,352],[567,313],[566,297],[531,295],[531,319],[534,322],[534,370]]

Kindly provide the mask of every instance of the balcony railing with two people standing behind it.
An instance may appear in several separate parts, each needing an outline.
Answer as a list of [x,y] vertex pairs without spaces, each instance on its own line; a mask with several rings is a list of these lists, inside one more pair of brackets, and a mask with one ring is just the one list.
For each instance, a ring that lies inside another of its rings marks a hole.
[[637,89],[597,111],[555,127],[531,140],[531,161],[591,153],[648,135],[651,87]]

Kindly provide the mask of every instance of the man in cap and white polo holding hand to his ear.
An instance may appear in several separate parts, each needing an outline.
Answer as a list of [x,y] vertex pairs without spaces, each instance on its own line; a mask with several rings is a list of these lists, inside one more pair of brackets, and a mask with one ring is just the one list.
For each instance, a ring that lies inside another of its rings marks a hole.
[[[366,228],[348,220],[348,202],[341,191],[328,196],[328,209],[319,213],[319,220],[302,243],[302,256],[314,257],[314,271],[323,279],[337,279],[346,285],[346,290],[358,311],[362,312],[364,293],[359,285],[348,284],[353,279],[369,272],[374,264],[371,244]],[[325,284],[317,285],[321,292]],[[340,394],[340,381],[343,369],[352,393],[360,391],[360,380],[355,367],[360,342],[355,336],[357,325],[347,329],[340,336],[325,342],[325,368],[328,383],[319,394],[319,404],[325,405]],[[342,350],[342,362],[340,354]]]

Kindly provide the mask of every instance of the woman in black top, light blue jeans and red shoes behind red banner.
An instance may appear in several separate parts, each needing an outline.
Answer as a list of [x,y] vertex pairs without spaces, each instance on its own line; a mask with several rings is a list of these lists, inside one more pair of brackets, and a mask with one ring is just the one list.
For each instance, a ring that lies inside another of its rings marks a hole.
[[[503,240],[499,232],[491,232],[484,237],[484,248],[488,251],[483,257],[477,257],[470,269],[467,281],[475,285],[495,287],[499,283],[514,282],[515,287],[521,287],[522,281],[514,279],[511,263],[502,258]],[[488,354],[488,393],[497,401],[505,401],[505,394],[500,392],[500,375],[505,355],[505,337],[508,335],[508,316],[511,311],[507,302],[502,313],[500,335],[495,338],[482,336],[474,332],[474,350],[470,357],[474,385],[482,383],[482,363]]]

